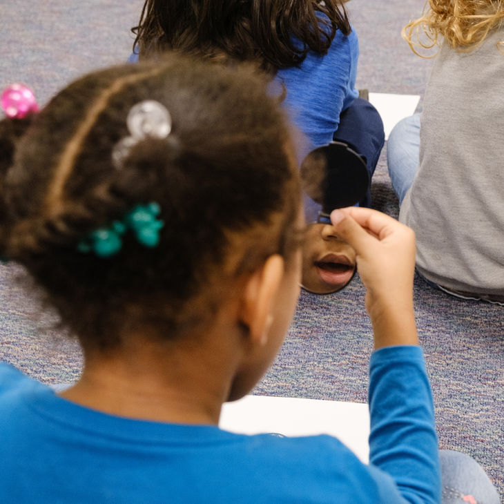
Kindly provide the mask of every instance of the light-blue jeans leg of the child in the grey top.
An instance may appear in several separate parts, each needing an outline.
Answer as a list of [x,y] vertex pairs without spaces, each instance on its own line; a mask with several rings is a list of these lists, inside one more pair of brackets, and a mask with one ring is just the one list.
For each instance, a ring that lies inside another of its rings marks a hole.
[[420,114],[415,114],[398,122],[387,142],[389,175],[399,204],[403,202],[415,177],[419,150]]

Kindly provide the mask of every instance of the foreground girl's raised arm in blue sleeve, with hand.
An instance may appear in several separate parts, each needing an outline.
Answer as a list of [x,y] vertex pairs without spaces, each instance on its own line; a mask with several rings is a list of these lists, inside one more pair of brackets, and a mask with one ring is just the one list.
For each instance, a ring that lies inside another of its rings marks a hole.
[[[414,233],[380,212],[352,207],[331,214],[337,233],[356,249],[367,289],[377,351],[369,367],[369,469],[393,478],[411,503],[440,501],[434,405],[413,311]],[[385,479],[377,502],[395,502]]]

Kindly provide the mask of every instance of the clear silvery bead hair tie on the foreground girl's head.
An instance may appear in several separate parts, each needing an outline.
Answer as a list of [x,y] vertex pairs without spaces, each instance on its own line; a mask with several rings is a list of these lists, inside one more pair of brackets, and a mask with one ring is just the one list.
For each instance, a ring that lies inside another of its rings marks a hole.
[[126,117],[126,126],[130,136],[119,140],[112,151],[113,164],[119,169],[122,168],[130,149],[141,140],[148,137],[157,139],[168,137],[172,127],[171,115],[159,101],[144,100],[131,107]]

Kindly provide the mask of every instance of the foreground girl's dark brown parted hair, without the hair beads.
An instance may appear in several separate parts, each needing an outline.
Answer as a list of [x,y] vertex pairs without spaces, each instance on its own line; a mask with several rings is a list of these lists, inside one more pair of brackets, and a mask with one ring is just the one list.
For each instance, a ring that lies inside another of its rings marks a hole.
[[[40,113],[0,122],[0,256],[26,267],[84,347],[208,323],[226,280],[295,249],[291,132],[266,85],[251,68],[167,55],[94,72]],[[113,147],[145,99],[168,108],[172,133],[139,142],[118,169]],[[78,251],[148,202],[165,223],[156,248],[126,234],[111,258]]]

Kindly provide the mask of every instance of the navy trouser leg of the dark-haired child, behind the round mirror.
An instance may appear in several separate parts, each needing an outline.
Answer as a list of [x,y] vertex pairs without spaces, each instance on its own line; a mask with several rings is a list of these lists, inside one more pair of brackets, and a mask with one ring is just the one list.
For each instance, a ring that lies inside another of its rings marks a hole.
[[[340,124],[333,139],[350,144],[366,158],[369,180],[371,180],[385,142],[383,122],[378,110],[369,101],[356,98],[351,106],[341,113]],[[359,205],[371,206],[371,188]]]

